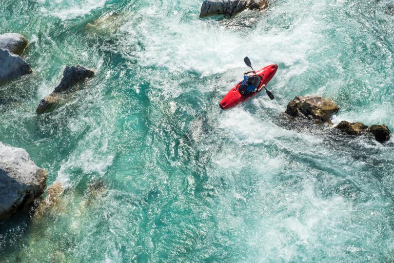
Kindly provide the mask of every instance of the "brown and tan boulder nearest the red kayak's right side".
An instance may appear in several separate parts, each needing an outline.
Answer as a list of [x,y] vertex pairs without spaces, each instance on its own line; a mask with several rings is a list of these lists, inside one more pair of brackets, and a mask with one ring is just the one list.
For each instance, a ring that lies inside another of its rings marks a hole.
[[330,122],[333,114],[339,111],[339,107],[331,100],[319,96],[295,97],[286,108],[286,113],[290,116],[298,116],[299,113],[320,122]]

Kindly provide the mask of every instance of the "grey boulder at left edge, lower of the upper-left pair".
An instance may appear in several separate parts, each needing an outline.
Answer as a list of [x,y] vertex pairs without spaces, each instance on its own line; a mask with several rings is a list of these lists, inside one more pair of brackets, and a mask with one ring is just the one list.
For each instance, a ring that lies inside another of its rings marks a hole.
[[29,65],[20,56],[0,48],[0,83],[31,72]]

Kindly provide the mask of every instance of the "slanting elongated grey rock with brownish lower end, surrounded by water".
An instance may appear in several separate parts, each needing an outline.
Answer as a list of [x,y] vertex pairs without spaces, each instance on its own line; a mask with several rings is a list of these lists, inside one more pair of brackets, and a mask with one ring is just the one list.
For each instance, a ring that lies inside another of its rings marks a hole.
[[81,82],[86,78],[92,77],[93,75],[93,70],[82,67],[81,65],[77,65],[76,67],[67,66],[63,71],[63,78],[60,81],[60,84],[57,85],[51,94],[41,100],[35,112],[41,114],[50,109],[60,101],[62,94],[65,91],[68,91],[76,83]]

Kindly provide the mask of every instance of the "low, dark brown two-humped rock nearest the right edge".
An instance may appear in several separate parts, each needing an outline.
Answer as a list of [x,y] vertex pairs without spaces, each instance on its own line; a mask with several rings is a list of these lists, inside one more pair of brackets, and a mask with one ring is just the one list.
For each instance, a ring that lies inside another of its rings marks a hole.
[[342,120],[335,128],[346,132],[350,135],[362,135],[364,133],[372,133],[377,141],[386,141],[390,139],[390,130],[386,125],[371,125],[368,127],[362,123],[349,123],[346,120]]

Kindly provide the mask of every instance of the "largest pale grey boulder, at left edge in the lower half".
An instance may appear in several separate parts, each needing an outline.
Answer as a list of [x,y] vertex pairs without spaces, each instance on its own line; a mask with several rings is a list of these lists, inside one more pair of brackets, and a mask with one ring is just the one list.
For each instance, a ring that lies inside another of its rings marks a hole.
[[24,149],[0,143],[0,216],[9,216],[41,197],[46,177]]

